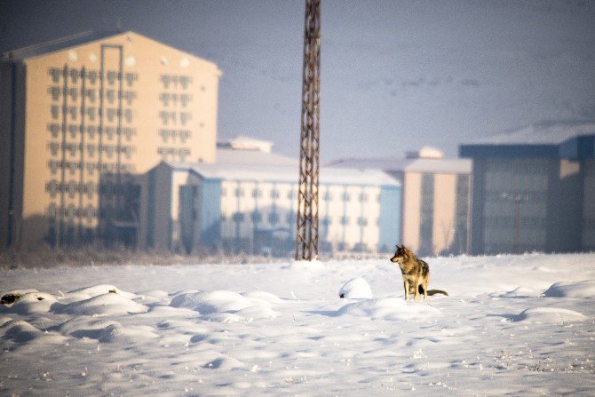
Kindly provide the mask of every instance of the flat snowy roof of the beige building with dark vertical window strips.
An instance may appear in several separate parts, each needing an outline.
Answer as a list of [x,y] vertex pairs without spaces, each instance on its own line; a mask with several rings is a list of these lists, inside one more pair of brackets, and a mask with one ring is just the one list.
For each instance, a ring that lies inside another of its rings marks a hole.
[[454,173],[469,174],[472,161],[469,159],[441,159],[441,158],[361,158],[338,160],[330,164],[332,167],[353,168],[358,170],[383,170],[387,172],[425,172],[425,173]]

